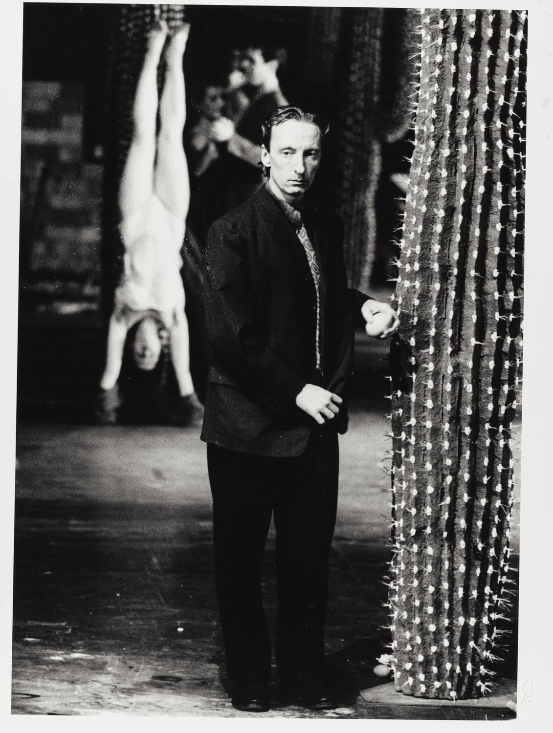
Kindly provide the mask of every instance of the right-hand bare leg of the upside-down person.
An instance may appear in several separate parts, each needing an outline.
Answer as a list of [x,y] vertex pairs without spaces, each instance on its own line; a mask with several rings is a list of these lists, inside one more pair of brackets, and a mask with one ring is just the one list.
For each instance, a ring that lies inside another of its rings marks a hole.
[[154,192],[169,211],[186,218],[190,202],[188,166],[183,150],[186,120],[183,54],[190,26],[184,24],[172,37],[166,50],[166,75],[159,114],[158,158],[155,164]]

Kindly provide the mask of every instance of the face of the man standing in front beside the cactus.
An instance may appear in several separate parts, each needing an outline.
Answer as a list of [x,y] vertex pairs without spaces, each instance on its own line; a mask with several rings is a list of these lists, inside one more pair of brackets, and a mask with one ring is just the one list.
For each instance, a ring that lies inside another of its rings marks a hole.
[[271,130],[269,150],[261,146],[261,161],[270,179],[289,203],[310,188],[321,161],[321,133],[312,122],[287,119]]

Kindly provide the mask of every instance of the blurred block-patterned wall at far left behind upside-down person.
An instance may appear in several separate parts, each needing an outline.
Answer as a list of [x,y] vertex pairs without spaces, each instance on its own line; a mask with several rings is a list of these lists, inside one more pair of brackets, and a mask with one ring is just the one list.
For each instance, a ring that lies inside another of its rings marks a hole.
[[84,89],[23,83],[21,295],[39,311],[98,309],[103,167],[83,163]]

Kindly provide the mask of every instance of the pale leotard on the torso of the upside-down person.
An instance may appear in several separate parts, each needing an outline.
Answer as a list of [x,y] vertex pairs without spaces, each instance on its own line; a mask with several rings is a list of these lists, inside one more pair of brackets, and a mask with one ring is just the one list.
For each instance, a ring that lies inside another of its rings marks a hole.
[[185,221],[172,214],[155,194],[123,219],[124,270],[115,290],[116,306],[133,311],[172,311],[184,307],[180,277]]

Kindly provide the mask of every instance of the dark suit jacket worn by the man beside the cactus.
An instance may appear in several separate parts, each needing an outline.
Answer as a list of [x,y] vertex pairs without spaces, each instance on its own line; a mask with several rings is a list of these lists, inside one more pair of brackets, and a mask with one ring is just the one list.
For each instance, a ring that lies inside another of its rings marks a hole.
[[[296,406],[306,383],[347,396],[354,313],[367,300],[348,290],[343,226],[334,213],[303,212],[321,267],[321,358],[317,295],[293,225],[265,187],[210,227],[205,323],[211,348],[202,440],[235,451],[296,456],[317,423]],[[329,423],[347,427],[345,401]]]

